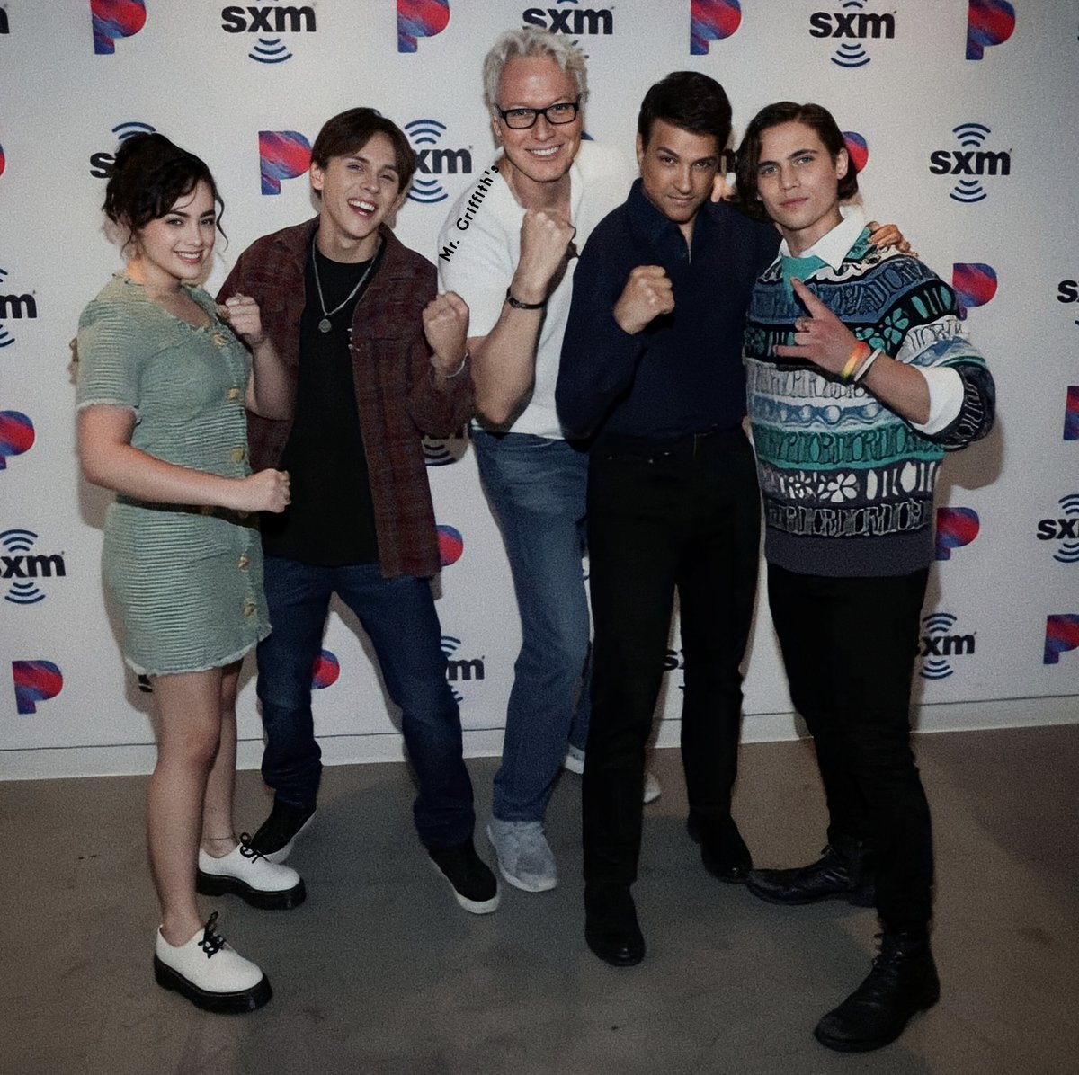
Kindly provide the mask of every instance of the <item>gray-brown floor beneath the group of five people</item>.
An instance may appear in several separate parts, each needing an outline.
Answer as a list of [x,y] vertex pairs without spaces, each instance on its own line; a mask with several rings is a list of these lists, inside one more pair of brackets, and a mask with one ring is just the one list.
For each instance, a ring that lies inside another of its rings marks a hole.
[[[678,752],[656,750],[636,886],[648,955],[614,969],[585,948],[579,780],[548,815],[561,884],[504,886],[460,910],[411,828],[401,764],[328,769],[291,864],[306,902],[257,911],[223,897],[220,927],[274,997],[210,1016],[159,989],[144,777],[0,784],[5,878],[0,1072],[739,1073],[1073,1075],[1079,1072],[1079,726],[919,736],[938,862],[942,997],[896,1044],[839,1056],[811,1030],[869,969],[872,911],[786,909],[712,880],[684,829]],[[494,759],[469,761],[477,846]],[[236,824],[269,799],[237,778]],[[747,745],[736,815],[757,865],[823,843],[807,742]]]

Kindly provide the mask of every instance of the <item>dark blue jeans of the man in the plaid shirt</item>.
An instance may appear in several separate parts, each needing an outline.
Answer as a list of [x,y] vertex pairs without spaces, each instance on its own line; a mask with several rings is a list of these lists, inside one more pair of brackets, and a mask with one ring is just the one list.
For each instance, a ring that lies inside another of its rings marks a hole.
[[267,744],[262,777],[292,807],[314,807],[322,750],[311,716],[311,676],[322,650],[330,597],[356,614],[374,647],[415,771],[420,839],[431,850],[473,835],[472,782],[462,757],[461,715],[446,681],[438,614],[426,579],[385,579],[378,564],[317,567],[267,556],[273,631],[258,647],[258,695]]

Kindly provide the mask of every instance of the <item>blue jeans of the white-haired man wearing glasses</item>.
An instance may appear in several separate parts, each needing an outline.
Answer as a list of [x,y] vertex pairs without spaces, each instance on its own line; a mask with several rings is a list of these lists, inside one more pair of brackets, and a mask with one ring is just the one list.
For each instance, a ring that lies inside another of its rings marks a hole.
[[[473,433],[521,617],[494,816],[542,821],[566,743],[588,736],[589,619],[581,556],[588,456],[530,433]],[[571,732],[572,728],[572,732]]]

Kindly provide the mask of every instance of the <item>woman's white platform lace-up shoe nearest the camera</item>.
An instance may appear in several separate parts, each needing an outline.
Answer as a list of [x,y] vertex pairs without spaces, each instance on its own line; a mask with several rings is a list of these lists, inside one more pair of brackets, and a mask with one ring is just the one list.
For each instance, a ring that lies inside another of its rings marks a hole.
[[237,1012],[261,1008],[273,991],[270,980],[214,929],[217,911],[186,945],[174,948],[161,935],[154,943],[153,975],[164,989],[175,989],[196,1008]]

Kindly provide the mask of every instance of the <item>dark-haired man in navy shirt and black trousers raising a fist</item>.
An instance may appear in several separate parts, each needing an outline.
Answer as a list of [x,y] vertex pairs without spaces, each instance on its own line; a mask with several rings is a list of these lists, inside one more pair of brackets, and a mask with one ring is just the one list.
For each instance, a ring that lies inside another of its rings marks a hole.
[[648,91],[641,179],[582,253],[558,378],[568,433],[595,438],[585,936],[619,966],[644,955],[629,890],[675,590],[689,832],[720,880],[743,881],[751,866],[730,817],[760,538],[741,337],[779,237],[709,201],[729,133],[729,102],[707,75],[675,72]]

